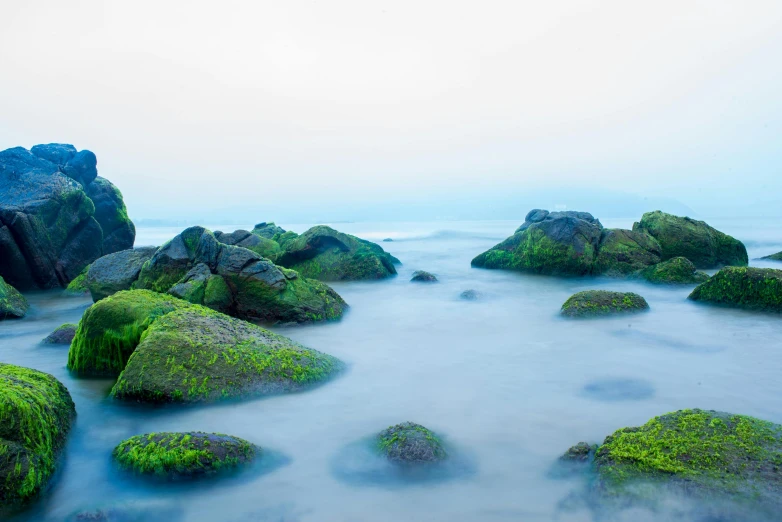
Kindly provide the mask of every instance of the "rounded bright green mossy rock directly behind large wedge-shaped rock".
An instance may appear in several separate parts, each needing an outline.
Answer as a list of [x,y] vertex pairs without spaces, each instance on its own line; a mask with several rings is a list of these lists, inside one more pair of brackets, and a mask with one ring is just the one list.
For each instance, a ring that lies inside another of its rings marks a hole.
[[150,324],[189,306],[193,305],[150,290],[126,290],[101,299],[79,322],[68,351],[68,369],[82,376],[116,377]]

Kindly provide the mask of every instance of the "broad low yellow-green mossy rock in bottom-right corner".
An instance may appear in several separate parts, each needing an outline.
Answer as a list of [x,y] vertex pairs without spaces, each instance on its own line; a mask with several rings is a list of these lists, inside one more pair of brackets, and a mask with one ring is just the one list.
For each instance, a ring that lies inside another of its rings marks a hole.
[[599,487],[618,494],[639,481],[689,494],[779,504],[782,426],[744,415],[681,410],[623,428],[595,455]]

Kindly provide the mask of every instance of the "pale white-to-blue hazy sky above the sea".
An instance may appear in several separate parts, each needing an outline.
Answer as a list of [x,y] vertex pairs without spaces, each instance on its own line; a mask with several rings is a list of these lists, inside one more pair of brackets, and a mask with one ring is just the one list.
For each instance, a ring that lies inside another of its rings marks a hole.
[[782,213],[779,0],[0,0],[0,20],[0,149],[94,151],[135,218],[492,218],[516,194],[523,217],[563,187]]

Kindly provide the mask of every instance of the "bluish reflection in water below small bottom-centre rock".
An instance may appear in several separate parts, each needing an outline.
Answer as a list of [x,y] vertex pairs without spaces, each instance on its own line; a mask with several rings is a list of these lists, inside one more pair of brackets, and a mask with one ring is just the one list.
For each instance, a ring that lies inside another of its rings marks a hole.
[[463,479],[476,466],[463,451],[448,445],[448,458],[435,464],[401,464],[378,453],[374,438],[362,439],[342,448],[331,460],[331,473],[354,486],[399,488],[429,482]]

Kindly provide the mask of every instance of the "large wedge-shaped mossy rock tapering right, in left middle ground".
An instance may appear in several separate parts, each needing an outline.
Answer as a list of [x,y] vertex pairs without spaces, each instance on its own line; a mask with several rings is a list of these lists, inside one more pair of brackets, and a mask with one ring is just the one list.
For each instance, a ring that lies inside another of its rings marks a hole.
[[150,403],[213,402],[301,391],[342,368],[330,355],[193,305],[146,329],[111,393]]

